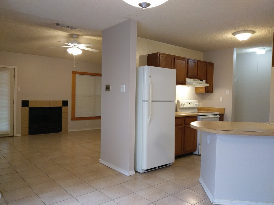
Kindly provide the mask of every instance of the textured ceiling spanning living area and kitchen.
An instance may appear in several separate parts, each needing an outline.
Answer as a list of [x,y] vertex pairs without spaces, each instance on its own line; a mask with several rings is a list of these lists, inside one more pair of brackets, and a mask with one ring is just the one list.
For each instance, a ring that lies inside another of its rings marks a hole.
[[[102,30],[130,18],[137,36],[196,51],[237,48],[237,54],[272,50],[273,0],[169,0],[148,8],[122,0],[0,0],[0,50],[73,59],[57,42],[92,43],[78,60],[101,63]],[[57,27],[55,23],[80,29]],[[244,43],[232,33],[253,30]]]

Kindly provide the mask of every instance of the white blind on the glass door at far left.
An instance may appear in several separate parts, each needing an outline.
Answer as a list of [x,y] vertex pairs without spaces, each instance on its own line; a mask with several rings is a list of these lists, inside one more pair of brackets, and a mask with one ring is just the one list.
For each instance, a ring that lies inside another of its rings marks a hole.
[[0,134],[10,133],[10,71],[0,70]]

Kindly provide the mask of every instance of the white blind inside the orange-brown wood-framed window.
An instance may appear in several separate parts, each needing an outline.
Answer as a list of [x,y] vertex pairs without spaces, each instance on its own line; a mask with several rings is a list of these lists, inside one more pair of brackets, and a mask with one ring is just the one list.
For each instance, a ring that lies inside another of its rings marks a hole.
[[101,76],[76,74],[75,117],[101,116]]

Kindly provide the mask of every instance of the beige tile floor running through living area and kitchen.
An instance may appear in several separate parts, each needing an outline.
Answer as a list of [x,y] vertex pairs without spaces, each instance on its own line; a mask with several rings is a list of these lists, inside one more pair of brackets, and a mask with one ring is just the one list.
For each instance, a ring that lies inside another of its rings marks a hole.
[[125,176],[99,163],[100,131],[0,138],[0,204],[210,205],[200,156]]

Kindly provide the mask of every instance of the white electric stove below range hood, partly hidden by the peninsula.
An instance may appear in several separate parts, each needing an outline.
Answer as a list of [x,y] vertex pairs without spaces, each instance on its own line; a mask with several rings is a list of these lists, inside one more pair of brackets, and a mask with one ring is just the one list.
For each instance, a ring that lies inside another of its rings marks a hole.
[[[177,112],[191,112],[198,113],[197,121],[219,121],[218,112],[204,112],[198,111],[199,102],[198,100],[178,100],[177,101]],[[202,131],[197,130],[197,150],[193,154],[201,154],[202,148]]]

